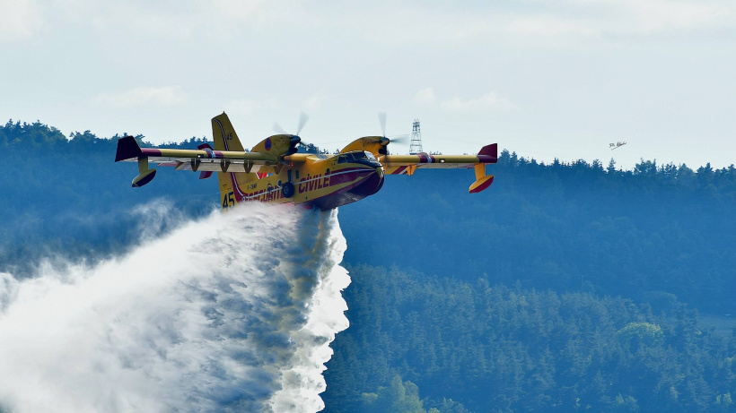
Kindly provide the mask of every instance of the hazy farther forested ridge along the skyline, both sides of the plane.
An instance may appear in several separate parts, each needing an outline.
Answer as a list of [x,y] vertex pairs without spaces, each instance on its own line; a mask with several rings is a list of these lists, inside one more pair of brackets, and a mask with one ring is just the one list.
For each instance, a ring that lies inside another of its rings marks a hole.
[[[0,180],[0,269],[27,272],[49,253],[89,259],[122,251],[146,219],[171,219],[140,211],[153,200],[184,217],[219,205],[215,178],[162,168],[133,189],[136,164],[113,162],[118,136],[70,138],[39,122],[0,125],[11,166]],[[387,176],[379,194],[340,209],[346,262],[467,281],[485,273],[523,288],[632,297],[655,311],[676,300],[715,314],[736,308],[733,166],[694,171],[643,160],[621,171],[613,162],[545,165],[503,151],[487,170],[495,182],[481,194],[468,194],[470,170]]]

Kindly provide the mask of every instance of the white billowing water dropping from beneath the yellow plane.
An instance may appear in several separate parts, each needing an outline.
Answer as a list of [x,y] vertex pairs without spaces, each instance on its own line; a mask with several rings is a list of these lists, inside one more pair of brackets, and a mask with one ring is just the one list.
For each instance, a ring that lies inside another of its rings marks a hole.
[[0,274],[0,410],[318,411],[345,250],[337,211],[249,204],[93,268]]

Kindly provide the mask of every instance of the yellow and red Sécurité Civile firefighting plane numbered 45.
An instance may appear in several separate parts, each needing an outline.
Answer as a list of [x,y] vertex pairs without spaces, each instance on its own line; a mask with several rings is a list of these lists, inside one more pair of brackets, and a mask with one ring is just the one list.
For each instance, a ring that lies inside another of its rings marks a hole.
[[[148,184],[159,167],[199,172],[206,179],[217,172],[223,210],[238,203],[294,202],[320,208],[337,208],[377,193],[384,175],[414,175],[418,168],[474,168],[476,181],[469,193],[476,194],[493,183],[486,175],[486,164],[496,163],[496,143],[484,146],[478,155],[390,155],[385,136],[356,139],[338,154],[299,152],[304,146],[294,134],[267,137],[250,151],[242,147],[230,119],[223,112],[212,118],[213,149],[209,144],[198,150],[141,148],[133,136],[120,138],[115,161],[137,161],[138,176],[133,187]],[[312,145],[309,147],[314,148]]]

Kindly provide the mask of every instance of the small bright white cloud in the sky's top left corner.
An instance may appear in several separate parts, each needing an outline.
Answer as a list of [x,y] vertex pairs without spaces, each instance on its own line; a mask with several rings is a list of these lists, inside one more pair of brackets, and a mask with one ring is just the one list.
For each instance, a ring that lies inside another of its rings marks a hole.
[[43,8],[34,0],[0,0],[0,41],[27,39],[43,27]]

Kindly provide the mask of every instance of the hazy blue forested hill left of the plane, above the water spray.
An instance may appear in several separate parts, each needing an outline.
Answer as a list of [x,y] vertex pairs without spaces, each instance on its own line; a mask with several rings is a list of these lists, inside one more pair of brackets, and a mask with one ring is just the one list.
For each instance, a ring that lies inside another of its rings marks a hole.
[[[0,179],[0,271],[28,274],[39,259],[57,254],[94,260],[119,253],[140,239],[150,219],[175,222],[218,204],[213,179],[194,174],[160,173],[153,185],[131,188],[137,165],[114,163],[117,135],[101,139],[86,131],[70,138],[38,122],[0,126],[8,166]],[[149,205],[154,200],[171,204],[173,212],[160,213]]]

